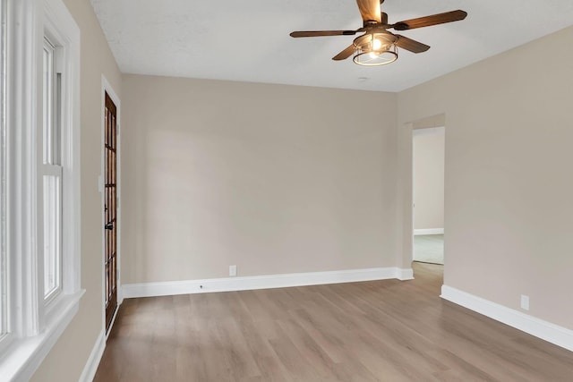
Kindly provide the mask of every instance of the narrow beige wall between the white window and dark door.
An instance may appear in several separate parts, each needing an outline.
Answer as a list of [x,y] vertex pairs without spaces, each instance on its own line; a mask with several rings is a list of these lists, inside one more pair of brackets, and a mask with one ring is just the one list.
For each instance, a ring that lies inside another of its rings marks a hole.
[[121,73],[90,1],[64,3],[81,29],[81,287],[86,293],[33,381],[77,381],[102,329],[101,76],[121,97]]

